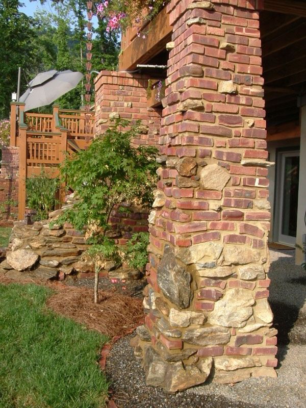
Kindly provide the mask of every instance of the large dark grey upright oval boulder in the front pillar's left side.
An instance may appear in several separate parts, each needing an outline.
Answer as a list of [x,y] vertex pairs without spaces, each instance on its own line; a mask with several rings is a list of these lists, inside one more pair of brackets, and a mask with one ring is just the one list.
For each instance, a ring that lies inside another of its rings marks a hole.
[[180,309],[189,307],[191,300],[191,275],[180,266],[174,257],[174,251],[165,246],[163,258],[157,269],[157,282],[164,296]]

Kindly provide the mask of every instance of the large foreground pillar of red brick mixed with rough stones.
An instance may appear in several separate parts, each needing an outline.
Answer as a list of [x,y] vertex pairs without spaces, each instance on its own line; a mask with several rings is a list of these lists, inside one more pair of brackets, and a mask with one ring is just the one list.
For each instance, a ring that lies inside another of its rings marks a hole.
[[259,13],[172,0],[174,48],[135,353],[168,392],[275,376]]

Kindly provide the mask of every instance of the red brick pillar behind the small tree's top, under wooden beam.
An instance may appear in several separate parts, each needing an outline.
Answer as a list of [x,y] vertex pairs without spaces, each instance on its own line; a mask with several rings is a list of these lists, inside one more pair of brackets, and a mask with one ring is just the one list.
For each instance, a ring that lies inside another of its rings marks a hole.
[[148,78],[138,73],[101,71],[95,80],[96,134],[103,133],[111,119],[141,120],[135,145],[157,145],[161,108],[148,108]]

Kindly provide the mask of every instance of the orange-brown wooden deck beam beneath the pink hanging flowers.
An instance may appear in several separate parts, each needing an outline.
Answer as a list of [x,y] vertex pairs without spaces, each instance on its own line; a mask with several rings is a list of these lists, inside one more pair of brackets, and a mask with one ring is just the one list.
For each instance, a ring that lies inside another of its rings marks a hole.
[[135,37],[119,57],[119,70],[132,70],[137,64],[147,62],[151,57],[161,52],[170,41],[172,26],[169,15],[164,7],[154,20],[146,27],[146,38]]

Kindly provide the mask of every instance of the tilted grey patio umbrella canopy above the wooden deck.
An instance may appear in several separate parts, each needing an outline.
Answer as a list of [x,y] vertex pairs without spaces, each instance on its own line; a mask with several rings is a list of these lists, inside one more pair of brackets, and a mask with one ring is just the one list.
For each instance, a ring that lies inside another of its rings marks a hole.
[[[33,81],[35,81],[36,78],[37,77],[35,77]],[[24,111],[49,105],[60,96],[75,88],[82,78],[83,74],[81,72],[73,72],[70,70],[57,71],[52,77],[40,85],[33,86],[31,85],[31,81],[29,84],[30,88],[20,96],[19,100],[25,103]]]

